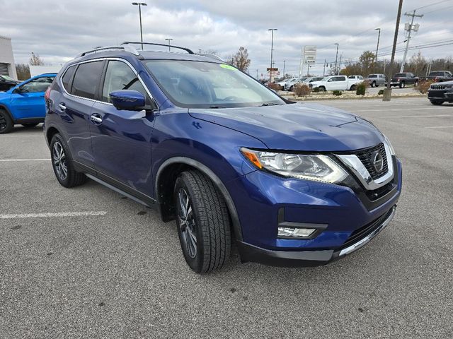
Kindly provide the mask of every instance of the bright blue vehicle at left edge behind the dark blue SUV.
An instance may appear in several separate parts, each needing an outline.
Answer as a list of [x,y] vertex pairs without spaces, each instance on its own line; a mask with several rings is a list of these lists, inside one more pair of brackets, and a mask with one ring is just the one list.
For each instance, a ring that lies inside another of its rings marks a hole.
[[56,73],[33,76],[0,93],[0,134],[11,132],[15,124],[33,127],[45,118],[44,93]]

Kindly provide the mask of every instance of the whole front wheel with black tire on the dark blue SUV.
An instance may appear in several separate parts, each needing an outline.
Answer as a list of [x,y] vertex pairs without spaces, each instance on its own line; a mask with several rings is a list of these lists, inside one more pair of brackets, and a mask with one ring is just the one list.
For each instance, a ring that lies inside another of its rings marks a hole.
[[231,251],[231,226],[222,194],[199,171],[180,174],[174,187],[176,225],[188,266],[196,273],[221,268]]

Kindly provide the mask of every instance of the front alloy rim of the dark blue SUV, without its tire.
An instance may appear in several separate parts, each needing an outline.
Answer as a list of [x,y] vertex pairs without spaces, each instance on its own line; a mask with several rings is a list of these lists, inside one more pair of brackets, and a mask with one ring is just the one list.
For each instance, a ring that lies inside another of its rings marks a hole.
[[197,256],[197,234],[192,203],[185,189],[178,191],[178,220],[183,244],[190,258]]

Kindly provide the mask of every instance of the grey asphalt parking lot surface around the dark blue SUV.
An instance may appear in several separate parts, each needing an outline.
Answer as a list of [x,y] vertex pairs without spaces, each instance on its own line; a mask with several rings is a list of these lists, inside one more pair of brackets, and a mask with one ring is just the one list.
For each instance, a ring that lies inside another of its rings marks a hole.
[[0,136],[0,337],[452,338],[453,104],[321,103],[373,121],[404,173],[386,230],[318,268],[234,251],[197,275],[173,222],[92,181],[59,186],[41,126]]

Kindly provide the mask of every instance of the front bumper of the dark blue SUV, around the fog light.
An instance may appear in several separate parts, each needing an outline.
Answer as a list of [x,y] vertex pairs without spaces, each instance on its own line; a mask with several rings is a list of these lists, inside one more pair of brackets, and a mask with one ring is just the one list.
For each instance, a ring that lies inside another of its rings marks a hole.
[[[229,182],[241,223],[241,261],[319,266],[366,244],[393,218],[401,194],[401,162],[396,157],[392,161],[394,179],[376,191],[367,191],[352,175],[344,186],[283,179],[259,170]],[[281,220],[322,230],[312,239],[280,238]]]

